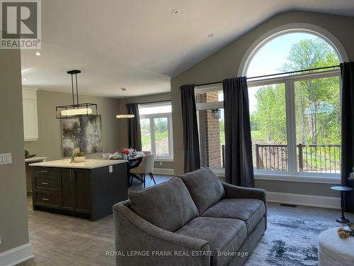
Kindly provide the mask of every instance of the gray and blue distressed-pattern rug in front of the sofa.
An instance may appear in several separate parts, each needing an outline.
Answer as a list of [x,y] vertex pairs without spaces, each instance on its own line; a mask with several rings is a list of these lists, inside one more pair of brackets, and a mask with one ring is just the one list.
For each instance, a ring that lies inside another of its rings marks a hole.
[[246,262],[246,266],[318,265],[317,238],[338,223],[269,216],[268,229]]

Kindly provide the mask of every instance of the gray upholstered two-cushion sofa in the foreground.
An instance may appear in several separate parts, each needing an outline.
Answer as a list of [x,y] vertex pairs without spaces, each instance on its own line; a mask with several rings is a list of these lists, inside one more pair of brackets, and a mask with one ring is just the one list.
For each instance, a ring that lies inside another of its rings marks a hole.
[[174,177],[113,206],[116,265],[243,265],[267,225],[262,189],[209,169]]

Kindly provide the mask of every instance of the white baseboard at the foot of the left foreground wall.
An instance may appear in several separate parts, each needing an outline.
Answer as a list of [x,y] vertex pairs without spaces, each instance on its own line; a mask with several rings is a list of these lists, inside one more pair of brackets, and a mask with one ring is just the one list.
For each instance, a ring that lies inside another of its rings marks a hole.
[[27,243],[0,253],[0,265],[13,266],[33,258],[32,245]]

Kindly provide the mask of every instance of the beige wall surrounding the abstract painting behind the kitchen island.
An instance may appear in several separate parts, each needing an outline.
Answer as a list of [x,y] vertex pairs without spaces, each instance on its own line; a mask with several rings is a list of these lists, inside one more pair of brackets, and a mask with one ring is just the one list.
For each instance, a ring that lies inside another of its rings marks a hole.
[[[97,104],[98,114],[102,122],[102,153],[113,153],[118,150],[118,139],[123,131],[115,115],[118,113],[118,99],[98,96],[79,96],[81,103]],[[70,104],[72,94],[38,91],[38,130],[39,139],[26,141],[25,148],[31,154],[48,157],[47,160],[62,158],[62,129],[61,120],[55,116],[55,106]],[[86,155],[89,158],[101,156],[101,153]]]

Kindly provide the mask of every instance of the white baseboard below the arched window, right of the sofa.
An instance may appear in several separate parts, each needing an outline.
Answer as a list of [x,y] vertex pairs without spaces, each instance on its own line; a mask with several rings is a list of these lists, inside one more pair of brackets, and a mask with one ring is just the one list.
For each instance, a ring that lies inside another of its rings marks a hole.
[[341,209],[341,198],[333,196],[314,196],[280,192],[266,192],[267,201],[302,206]]

